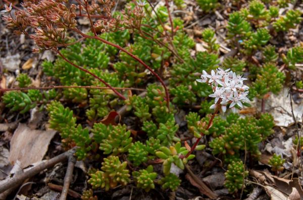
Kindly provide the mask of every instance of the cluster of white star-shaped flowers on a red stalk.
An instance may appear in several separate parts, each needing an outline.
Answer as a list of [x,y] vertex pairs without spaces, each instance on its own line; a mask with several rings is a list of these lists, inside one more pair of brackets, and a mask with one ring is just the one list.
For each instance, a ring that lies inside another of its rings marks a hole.
[[211,75],[203,71],[201,79],[197,79],[196,81],[207,83],[212,86],[214,94],[209,96],[215,98],[215,104],[210,107],[211,109],[220,106],[219,109],[225,112],[227,105],[230,104],[229,108],[235,112],[235,105],[242,108],[243,105],[241,102],[250,102],[247,98],[247,90],[249,87],[243,85],[243,81],[245,80],[247,79],[242,78],[240,75],[236,75],[234,72],[230,71],[230,69],[224,71],[223,69],[218,68],[216,71],[212,70]]

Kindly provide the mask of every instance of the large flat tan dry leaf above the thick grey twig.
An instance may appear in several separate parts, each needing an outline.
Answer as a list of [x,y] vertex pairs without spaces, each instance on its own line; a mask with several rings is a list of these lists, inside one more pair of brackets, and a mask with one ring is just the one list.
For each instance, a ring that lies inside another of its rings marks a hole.
[[22,168],[41,161],[55,134],[56,130],[35,130],[20,123],[11,141],[9,161],[19,160]]

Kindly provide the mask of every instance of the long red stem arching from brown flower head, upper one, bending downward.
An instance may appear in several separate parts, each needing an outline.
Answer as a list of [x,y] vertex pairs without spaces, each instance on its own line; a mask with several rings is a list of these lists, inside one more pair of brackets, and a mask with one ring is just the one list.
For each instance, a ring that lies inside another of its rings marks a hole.
[[103,43],[106,43],[108,45],[111,45],[113,47],[116,47],[117,49],[125,52],[126,54],[128,54],[129,56],[131,56],[133,59],[137,60],[140,64],[142,64],[147,70],[149,70],[151,72],[151,74],[155,75],[156,78],[160,81],[160,83],[162,84],[162,86],[164,87],[165,90],[165,95],[166,95],[166,100],[167,100],[167,107],[168,109],[170,109],[169,107],[169,103],[170,103],[170,98],[169,98],[169,93],[168,93],[168,89],[164,83],[164,81],[161,79],[161,77],[153,70],[151,69],[147,64],[145,64],[140,58],[138,58],[137,56],[135,56],[134,54],[132,54],[131,52],[127,51],[126,49],[124,49],[123,47],[119,46],[118,44],[114,44],[110,41],[107,41],[103,38],[100,38],[98,36],[90,36],[90,35],[86,35],[84,33],[82,33],[79,29],[75,28],[73,29],[74,31],[76,31],[77,33],[79,33],[80,35],[82,35],[85,38],[91,38],[91,39],[96,39],[99,41],[102,41]]

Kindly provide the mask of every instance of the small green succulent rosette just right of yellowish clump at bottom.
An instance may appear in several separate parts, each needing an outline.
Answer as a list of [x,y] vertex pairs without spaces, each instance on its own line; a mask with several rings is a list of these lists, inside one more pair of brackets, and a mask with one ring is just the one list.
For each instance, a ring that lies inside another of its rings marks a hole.
[[153,165],[149,165],[146,169],[133,171],[132,175],[138,188],[142,188],[146,192],[155,188],[154,180],[157,178],[158,174],[154,172]]

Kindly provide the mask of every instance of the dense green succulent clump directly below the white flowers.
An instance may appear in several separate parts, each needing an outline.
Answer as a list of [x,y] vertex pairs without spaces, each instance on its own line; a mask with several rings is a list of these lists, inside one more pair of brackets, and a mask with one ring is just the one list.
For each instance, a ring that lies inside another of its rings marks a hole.
[[254,117],[238,119],[238,117],[237,114],[230,114],[226,117],[226,122],[223,119],[217,119],[216,125],[214,120],[213,127],[217,131],[219,129],[220,134],[213,134],[217,138],[209,144],[213,149],[213,154],[235,155],[239,154],[239,151],[248,151],[252,156],[260,156],[259,143],[274,132],[272,115],[265,113],[260,119]]

